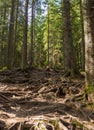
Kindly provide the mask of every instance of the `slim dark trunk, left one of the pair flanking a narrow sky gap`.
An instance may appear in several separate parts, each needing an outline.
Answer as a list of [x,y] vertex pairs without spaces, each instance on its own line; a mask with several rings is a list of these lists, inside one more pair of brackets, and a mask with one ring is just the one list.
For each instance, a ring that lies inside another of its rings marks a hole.
[[28,2],[29,0],[25,0],[22,69],[27,67]]

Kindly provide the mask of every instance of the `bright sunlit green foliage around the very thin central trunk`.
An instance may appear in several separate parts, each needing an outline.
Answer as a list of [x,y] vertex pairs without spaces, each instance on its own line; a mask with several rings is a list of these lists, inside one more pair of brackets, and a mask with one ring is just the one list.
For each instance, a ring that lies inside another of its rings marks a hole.
[[[48,13],[44,26],[44,50],[46,52],[46,65],[48,64],[48,51],[49,51],[49,64],[51,67],[56,67],[58,64],[62,64],[60,59],[62,58],[62,14],[59,12],[61,5],[59,1],[50,1]],[[49,26],[49,28],[48,28]],[[49,33],[49,34],[48,34]],[[49,41],[49,48],[48,48]]]

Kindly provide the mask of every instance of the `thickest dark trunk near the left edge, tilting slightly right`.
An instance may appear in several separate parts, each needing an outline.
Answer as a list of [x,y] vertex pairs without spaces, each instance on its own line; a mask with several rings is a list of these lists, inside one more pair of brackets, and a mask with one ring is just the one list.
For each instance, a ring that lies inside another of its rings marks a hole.
[[10,13],[10,25],[8,34],[8,59],[7,68],[12,67],[12,57],[13,57],[13,36],[14,36],[14,11],[15,11],[15,0],[11,0],[11,13]]

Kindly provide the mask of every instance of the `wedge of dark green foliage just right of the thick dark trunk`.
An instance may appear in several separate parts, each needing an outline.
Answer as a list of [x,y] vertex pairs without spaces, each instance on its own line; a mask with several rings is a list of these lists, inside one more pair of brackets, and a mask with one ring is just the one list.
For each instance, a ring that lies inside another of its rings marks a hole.
[[76,62],[78,69],[81,69],[81,44],[82,44],[82,27],[81,27],[81,11],[80,11],[80,1],[73,0],[71,2],[71,25],[72,25],[72,35],[73,44],[75,47]]

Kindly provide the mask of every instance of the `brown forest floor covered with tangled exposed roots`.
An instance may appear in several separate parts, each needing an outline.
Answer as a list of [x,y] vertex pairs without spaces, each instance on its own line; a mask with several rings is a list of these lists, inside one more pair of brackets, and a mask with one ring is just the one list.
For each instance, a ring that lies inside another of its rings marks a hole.
[[94,130],[84,78],[62,70],[0,72],[0,130]]

